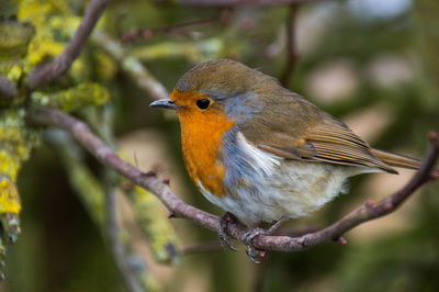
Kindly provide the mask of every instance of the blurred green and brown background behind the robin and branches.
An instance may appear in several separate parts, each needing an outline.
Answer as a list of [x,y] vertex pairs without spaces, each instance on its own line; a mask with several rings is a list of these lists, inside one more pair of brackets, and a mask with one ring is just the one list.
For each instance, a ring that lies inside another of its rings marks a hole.
[[[32,42],[52,37],[56,44],[68,42],[89,3],[12,2],[8,13],[35,25]],[[185,172],[177,117],[148,108],[204,60],[233,58],[277,77],[373,147],[417,158],[427,154],[427,134],[439,130],[437,1],[328,0],[263,7],[195,2],[113,1],[67,81],[44,93],[64,89],[66,82],[104,87],[110,96],[104,105],[75,114],[142,170],[159,168],[160,177],[169,177],[171,189],[185,202],[216,215],[223,211],[198,192]],[[43,37],[48,30],[49,36]],[[32,49],[37,49],[33,43],[29,54]],[[45,57],[56,54],[54,45]],[[133,63],[142,70],[133,70]],[[150,85],[142,83],[145,80]],[[111,175],[64,133],[47,130],[44,142],[18,179],[22,233],[8,247],[0,291],[128,291],[101,217],[103,182]],[[399,176],[354,177],[348,194],[284,227],[327,226],[369,199],[390,195],[413,175],[401,170]],[[346,234],[346,246],[270,251],[261,265],[251,263],[243,246],[233,252],[217,246],[215,233],[168,220],[150,194],[126,181],[119,183],[122,187],[114,189],[127,262],[150,291],[439,290],[437,182],[395,213]],[[138,198],[147,203],[137,207]],[[154,218],[142,216],[151,210]],[[145,226],[153,221],[157,231]],[[154,246],[159,236],[167,240],[162,250]]]

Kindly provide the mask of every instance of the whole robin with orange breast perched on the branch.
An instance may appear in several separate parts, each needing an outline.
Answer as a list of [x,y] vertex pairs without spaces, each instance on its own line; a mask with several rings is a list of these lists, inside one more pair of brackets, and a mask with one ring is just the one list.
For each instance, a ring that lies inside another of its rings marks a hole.
[[[187,170],[204,196],[227,212],[219,237],[232,249],[226,231],[235,216],[279,226],[346,192],[348,177],[420,166],[371,148],[274,78],[229,59],[195,66],[169,100],[150,106],[177,110]],[[245,240],[250,259],[262,255],[251,247],[262,232],[255,228]]]

